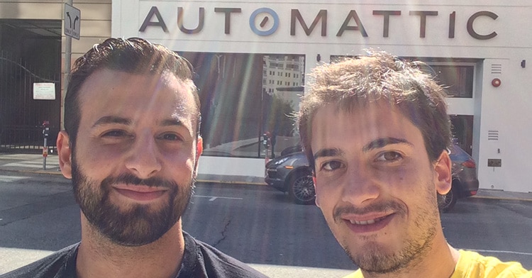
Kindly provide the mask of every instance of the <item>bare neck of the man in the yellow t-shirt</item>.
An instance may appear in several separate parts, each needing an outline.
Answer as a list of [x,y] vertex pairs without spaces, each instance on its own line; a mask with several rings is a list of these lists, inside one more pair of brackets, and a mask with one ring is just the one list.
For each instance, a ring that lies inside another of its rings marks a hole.
[[362,274],[364,274],[365,278],[450,278],[453,275],[460,253],[448,245],[443,237],[443,231],[436,235],[433,245],[426,251],[426,254],[420,254],[419,260],[411,262],[395,272],[378,274],[362,270]]

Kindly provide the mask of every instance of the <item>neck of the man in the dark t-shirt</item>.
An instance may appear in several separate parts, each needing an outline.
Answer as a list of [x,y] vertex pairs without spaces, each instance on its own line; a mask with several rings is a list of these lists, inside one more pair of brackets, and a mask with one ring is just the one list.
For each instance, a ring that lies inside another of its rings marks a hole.
[[176,277],[183,255],[181,218],[155,242],[131,247],[105,238],[82,213],[82,243],[76,259],[80,278]]

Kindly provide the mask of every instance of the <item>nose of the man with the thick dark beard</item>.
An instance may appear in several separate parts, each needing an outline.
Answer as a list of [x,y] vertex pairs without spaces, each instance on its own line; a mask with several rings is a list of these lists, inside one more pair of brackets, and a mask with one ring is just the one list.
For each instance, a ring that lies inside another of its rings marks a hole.
[[162,164],[159,158],[157,142],[148,133],[138,135],[126,160],[126,168],[140,179],[148,179],[160,172]]

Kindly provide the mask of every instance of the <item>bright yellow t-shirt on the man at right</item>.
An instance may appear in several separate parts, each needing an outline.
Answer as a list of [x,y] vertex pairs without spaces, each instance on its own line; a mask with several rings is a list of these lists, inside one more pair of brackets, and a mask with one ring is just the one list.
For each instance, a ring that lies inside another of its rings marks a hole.
[[[532,278],[519,262],[501,262],[477,252],[460,250],[460,258],[451,278]],[[344,278],[364,278],[360,269]]]

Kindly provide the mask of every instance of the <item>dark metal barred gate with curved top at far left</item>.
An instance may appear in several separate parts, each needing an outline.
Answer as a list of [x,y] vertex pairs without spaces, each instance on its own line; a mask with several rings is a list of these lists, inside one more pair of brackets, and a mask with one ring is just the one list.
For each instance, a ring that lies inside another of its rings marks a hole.
[[[55,84],[54,100],[33,99],[33,84]],[[28,68],[21,57],[0,51],[0,151],[41,152],[43,123],[50,123],[48,145],[60,130],[60,72]]]

